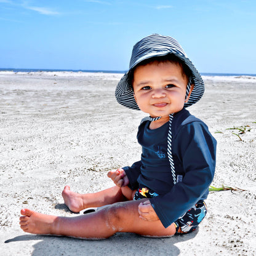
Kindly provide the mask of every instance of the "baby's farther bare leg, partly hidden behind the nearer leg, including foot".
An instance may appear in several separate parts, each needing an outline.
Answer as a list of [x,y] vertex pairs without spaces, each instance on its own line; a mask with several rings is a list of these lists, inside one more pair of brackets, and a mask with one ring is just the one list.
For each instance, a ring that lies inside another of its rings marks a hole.
[[[126,191],[127,190],[130,189],[127,187]],[[68,206],[72,212],[79,212],[80,210],[88,207],[105,206],[106,204],[113,204],[114,202],[122,202],[127,200],[124,194],[122,194],[122,189],[118,186],[88,194],[75,193],[70,190],[70,186],[65,186],[64,190],[62,191],[62,197],[66,206]]]

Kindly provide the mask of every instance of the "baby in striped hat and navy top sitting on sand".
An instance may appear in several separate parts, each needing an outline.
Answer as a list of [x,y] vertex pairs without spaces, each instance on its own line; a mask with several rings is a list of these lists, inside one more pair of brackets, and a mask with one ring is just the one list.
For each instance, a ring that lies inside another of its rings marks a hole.
[[95,212],[56,217],[22,209],[22,230],[84,239],[116,232],[164,237],[195,230],[207,212],[204,200],[216,154],[206,124],[186,110],[203,93],[200,74],[175,39],[152,34],[137,42],[116,98],[150,115],[138,127],[140,161],[109,172],[113,188],[78,194],[65,187],[62,195],[71,211],[99,207]]

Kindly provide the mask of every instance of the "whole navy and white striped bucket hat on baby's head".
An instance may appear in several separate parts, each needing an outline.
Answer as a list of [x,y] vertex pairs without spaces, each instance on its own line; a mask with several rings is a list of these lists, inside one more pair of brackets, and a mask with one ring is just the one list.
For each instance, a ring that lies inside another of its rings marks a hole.
[[123,106],[131,108],[132,110],[140,110],[134,99],[134,94],[130,89],[128,73],[138,63],[152,57],[164,56],[167,54],[174,54],[182,60],[191,70],[191,78],[187,87],[187,94],[190,91],[191,83],[194,84],[194,89],[191,92],[190,99],[185,103],[185,108],[198,102],[204,94],[204,81],[201,78],[198,70],[194,67],[193,63],[186,57],[185,51],[180,44],[170,36],[162,36],[161,34],[151,34],[143,38],[135,44],[132,50],[132,57],[130,58],[129,70],[121,78],[116,87],[116,100]]

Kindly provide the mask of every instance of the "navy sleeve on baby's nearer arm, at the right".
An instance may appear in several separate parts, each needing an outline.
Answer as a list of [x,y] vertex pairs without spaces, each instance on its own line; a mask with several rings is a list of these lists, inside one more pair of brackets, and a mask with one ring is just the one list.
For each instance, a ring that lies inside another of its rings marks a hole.
[[192,122],[182,126],[173,138],[172,152],[174,151],[183,164],[183,180],[176,183],[169,193],[150,199],[166,228],[209,190],[215,172],[216,140],[206,124]]

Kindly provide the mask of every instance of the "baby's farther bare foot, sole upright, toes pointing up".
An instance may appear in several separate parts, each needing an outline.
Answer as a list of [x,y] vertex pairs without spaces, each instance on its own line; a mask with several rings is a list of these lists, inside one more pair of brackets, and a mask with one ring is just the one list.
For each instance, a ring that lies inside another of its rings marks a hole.
[[68,209],[70,209],[71,212],[79,212],[85,208],[82,194],[71,191],[70,186],[65,186],[64,190],[62,191],[62,197],[66,206],[68,206]]

